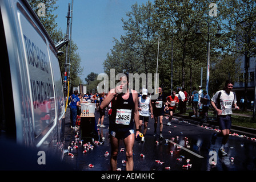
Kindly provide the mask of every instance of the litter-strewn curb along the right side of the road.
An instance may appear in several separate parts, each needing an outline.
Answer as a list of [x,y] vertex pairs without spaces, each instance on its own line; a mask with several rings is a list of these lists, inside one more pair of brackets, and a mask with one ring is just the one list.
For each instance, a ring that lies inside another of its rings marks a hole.
[[[189,121],[190,123],[193,123],[195,125],[203,125],[203,126],[209,126],[212,127],[213,129],[218,129],[218,122],[214,119],[211,119],[210,121],[207,121],[207,123],[202,122],[202,118],[191,118],[186,115],[180,115],[180,114],[173,114],[174,117],[176,118],[183,118]],[[242,126],[237,126],[237,125],[231,125],[231,132],[232,133],[238,133],[242,135],[246,135],[248,137],[256,137],[256,129],[252,128],[247,128],[247,127],[242,127]]]

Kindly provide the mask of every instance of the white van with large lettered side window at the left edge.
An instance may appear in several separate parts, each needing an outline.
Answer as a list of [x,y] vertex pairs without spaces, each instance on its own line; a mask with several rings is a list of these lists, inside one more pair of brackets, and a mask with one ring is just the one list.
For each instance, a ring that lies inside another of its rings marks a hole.
[[63,158],[58,50],[25,0],[0,1],[0,31],[0,141]]

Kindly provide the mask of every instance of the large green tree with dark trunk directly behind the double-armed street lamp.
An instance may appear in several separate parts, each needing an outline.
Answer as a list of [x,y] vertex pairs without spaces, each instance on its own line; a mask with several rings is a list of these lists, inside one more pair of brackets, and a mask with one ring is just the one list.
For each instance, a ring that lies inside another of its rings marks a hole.
[[[186,65],[197,67],[202,62],[197,60],[195,53],[206,52],[202,45],[206,45],[205,40],[195,38],[195,26],[199,20],[207,18],[207,10],[209,11],[210,1],[155,1],[157,9],[158,20],[163,25],[162,31],[169,30],[171,35],[174,32],[174,39],[176,40],[176,48],[179,48],[179,55],[176,55],[175,60],[181,61],[182,66],[182,87],[185,87],[185,69]],[[187,61],[186,61],[187,60]],[[200,66],[199,66],[200,67]]]

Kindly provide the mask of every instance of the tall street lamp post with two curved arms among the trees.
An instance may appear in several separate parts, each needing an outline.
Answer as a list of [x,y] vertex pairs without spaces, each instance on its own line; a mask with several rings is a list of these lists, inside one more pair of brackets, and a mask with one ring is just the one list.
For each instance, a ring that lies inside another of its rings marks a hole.
[[[201,36],[202,35],[202,32],[199,30],[199,24],[202,22],[202,21],[205,21],[207,23],[207,26],[208,26],[208,31],[207,31],[207,68],[206,68],[206,92],[209,94],[208,90],[209,90],[209,77],[210,77],[210,41],[209,41],[209,38],[210,38],[210,23],[211,22],[217,22],[216,20],[211,20],[210,22],[208,22],[207,20],[205,19],[202,19],[199,21],[198,23],[198,26],[197,26],[197,31],[195,32],[195,34],[197,36]],[[221,37],[221,32],[219,32],[221,29],[219,28],[219,23],[217,22],[218,24],[218,31],[217,31],[217,34],[215,34],[215,36],[217,38],[220,38]]]

